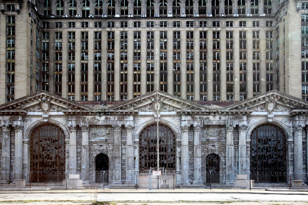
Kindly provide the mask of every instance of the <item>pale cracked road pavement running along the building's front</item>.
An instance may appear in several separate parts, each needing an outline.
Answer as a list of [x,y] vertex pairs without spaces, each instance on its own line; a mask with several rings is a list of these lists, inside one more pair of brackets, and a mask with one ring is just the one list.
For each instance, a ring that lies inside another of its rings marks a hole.
[[91,204],[93,201],[116,201],[113,204],[308,204],[307,191],[266,191],[239,189],[192,190],[48,190],[3,191],[0,204]]

